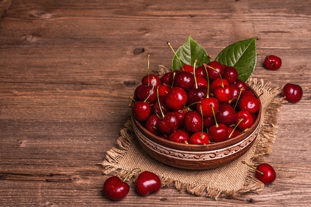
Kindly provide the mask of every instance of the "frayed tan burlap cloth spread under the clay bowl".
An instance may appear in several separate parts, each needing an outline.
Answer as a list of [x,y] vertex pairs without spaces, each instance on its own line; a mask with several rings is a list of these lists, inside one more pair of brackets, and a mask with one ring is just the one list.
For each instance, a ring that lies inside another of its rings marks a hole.
[[[129,171],[140,167],[156,173],[162,186],[174,185],[179,191],[185,191],[198,196],[210,198],[236,198],[245,192],[258,193],[264,184],[254,177],[254,171],[242,164],[246,161],[253,166],[264,162],[264,155],[271,152],[271,145],[277,133],[277,114],[284,99],[280,96],[281,88],[273,87],[270,83],[249,78],[247,83],[260,95],[262,103],[262,120],[260,132],[252,147],[237,160],[212,170],[184,170],[167,166],[158,162],[144,152],[135,138],[131,121],[125,123],[117,139],[118,148],[107,151],[105,160],[101,163],[103,173],[114,174],[121,179]],[[131,174],[135,178],[139,171]]]

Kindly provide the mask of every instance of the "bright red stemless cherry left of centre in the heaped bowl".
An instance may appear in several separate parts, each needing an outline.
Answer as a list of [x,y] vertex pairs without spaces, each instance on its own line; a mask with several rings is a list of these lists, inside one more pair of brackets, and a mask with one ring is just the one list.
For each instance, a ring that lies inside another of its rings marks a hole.
[[172,87],[165,96],[165,104],[172,111],[183,109],[187,101],[187,92],[177,86]]

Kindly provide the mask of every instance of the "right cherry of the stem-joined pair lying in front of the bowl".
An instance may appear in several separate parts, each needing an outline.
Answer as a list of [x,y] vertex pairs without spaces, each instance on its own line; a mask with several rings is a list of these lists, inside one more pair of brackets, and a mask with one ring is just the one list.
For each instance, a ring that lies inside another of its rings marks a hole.
[[136,191],[141,196],[156,193],[161,188],[160,178],[153,172],[144,171],[137,177]]

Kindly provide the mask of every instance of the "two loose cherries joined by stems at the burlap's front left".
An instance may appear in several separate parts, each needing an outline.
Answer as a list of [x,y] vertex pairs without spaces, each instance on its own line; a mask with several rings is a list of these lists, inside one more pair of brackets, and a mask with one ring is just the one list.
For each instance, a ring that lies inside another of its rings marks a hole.
[[[130,191],[130,186],[125,181],[134,170],[142,171],[140,168],[135,168],[127,174],[124,180],[121,180],[117,176],[109,177],[103,185],[104,195],[113,201],[124,199]],[[136,192],[139,195],[148,196],[160,190],[161,181],[155,173],[143,171],[138,175],[135,186]]]

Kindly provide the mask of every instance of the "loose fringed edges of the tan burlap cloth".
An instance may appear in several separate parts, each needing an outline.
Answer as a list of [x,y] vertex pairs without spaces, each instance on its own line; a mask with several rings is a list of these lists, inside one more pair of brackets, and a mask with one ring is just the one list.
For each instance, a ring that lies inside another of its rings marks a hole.
[[[165,68],[159,74],[165,73]],[[269,154],[272,151],[272,143],[276,139],[277,134],[277,115],[280,110],[281,105],[286,102],[282,97],[277,97],[281,93],[281,88],[273,87],[270,83],[264,83],[263,80],[258,81],[257,78],[249,78],[247,83],[258,93],[264,93],[269,91],[269,93],[274,94],[273,101],[266,107],[263,113],[263,121],[261,123],[260,136],[261,140],[258,141],[259,144],[255,147],[254,156],[251,157],[250,164],[257,166],[264,162],[264,155]],[[117,139],[118,148],[113,147],[107,151],[106,158],[100,163],[104,166],[103,174],[116,174],[121,179],[125,178],[129,173],[129,169],[120,169],[118,166],[119,159],[127,154],[127,147],[131,142],[135,140],[135,134],[132,128],[132,122],[128,120],[124,128],[120,131],[120,137]],[[136,177],[139,175],[139,171],[134,171],[130,174],[127,180],[133,179],[135,182]],[[206,192],[206,197],[214,198],[217,200],[221,197],[237,198],[241,194],[246,192],[259,193],[264,188],[264,184],[259,182],[254,175],[252,170],[249,170],[245,178],[243,188],[237,191],[220,191],[219,189],[212,189],[207,187],[205,184],[194,185],[184,182],[175,181],[172,178],[160,177],[161,184],[163,186],[174,185],[174,188],[178,191],[185,191],[187,193],[202,196]]]

